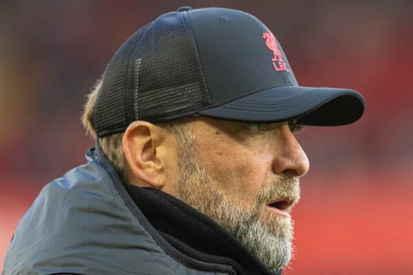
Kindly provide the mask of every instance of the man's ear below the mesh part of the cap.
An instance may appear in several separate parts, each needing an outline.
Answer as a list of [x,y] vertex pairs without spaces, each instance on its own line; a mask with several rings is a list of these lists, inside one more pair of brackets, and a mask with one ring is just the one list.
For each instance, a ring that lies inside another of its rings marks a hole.
[[165,155],[168,152],[165,154],[163,147],[167,133],[150,122],[138,120],[129,124],[123,136],[123,151],[135,175],[131,184],[142,185],[142,181],[145,181],[146,186],[152,188],[165,187]]

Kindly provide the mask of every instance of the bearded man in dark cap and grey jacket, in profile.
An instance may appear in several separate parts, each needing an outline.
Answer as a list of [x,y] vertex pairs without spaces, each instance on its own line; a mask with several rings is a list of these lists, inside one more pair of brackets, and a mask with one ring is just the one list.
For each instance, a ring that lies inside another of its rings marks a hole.
[[363,109],[356,91],[299,87],[250,14],[163,14],[89,95],[87,164],[43,188],[3,274],[281,274],[309,168],[294,133]]

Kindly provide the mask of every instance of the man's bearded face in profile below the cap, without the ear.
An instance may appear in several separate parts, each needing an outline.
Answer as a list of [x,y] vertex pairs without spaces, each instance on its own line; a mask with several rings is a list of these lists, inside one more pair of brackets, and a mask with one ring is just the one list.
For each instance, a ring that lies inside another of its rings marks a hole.
[[[292,257],[291,208],[308,159],[288,123],[196,117],[178,139],[179,198],[232,232],[271,270]],[[275,203],[270,206],[271,203]]]

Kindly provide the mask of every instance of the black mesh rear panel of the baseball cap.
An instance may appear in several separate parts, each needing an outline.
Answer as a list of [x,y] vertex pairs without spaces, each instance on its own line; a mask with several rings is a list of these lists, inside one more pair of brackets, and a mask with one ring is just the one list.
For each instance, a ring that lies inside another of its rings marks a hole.
[[158,17],[133,34],[105,72],[92,113],[99,137],[135,120],[164,122],[211,104],[186,12]]

